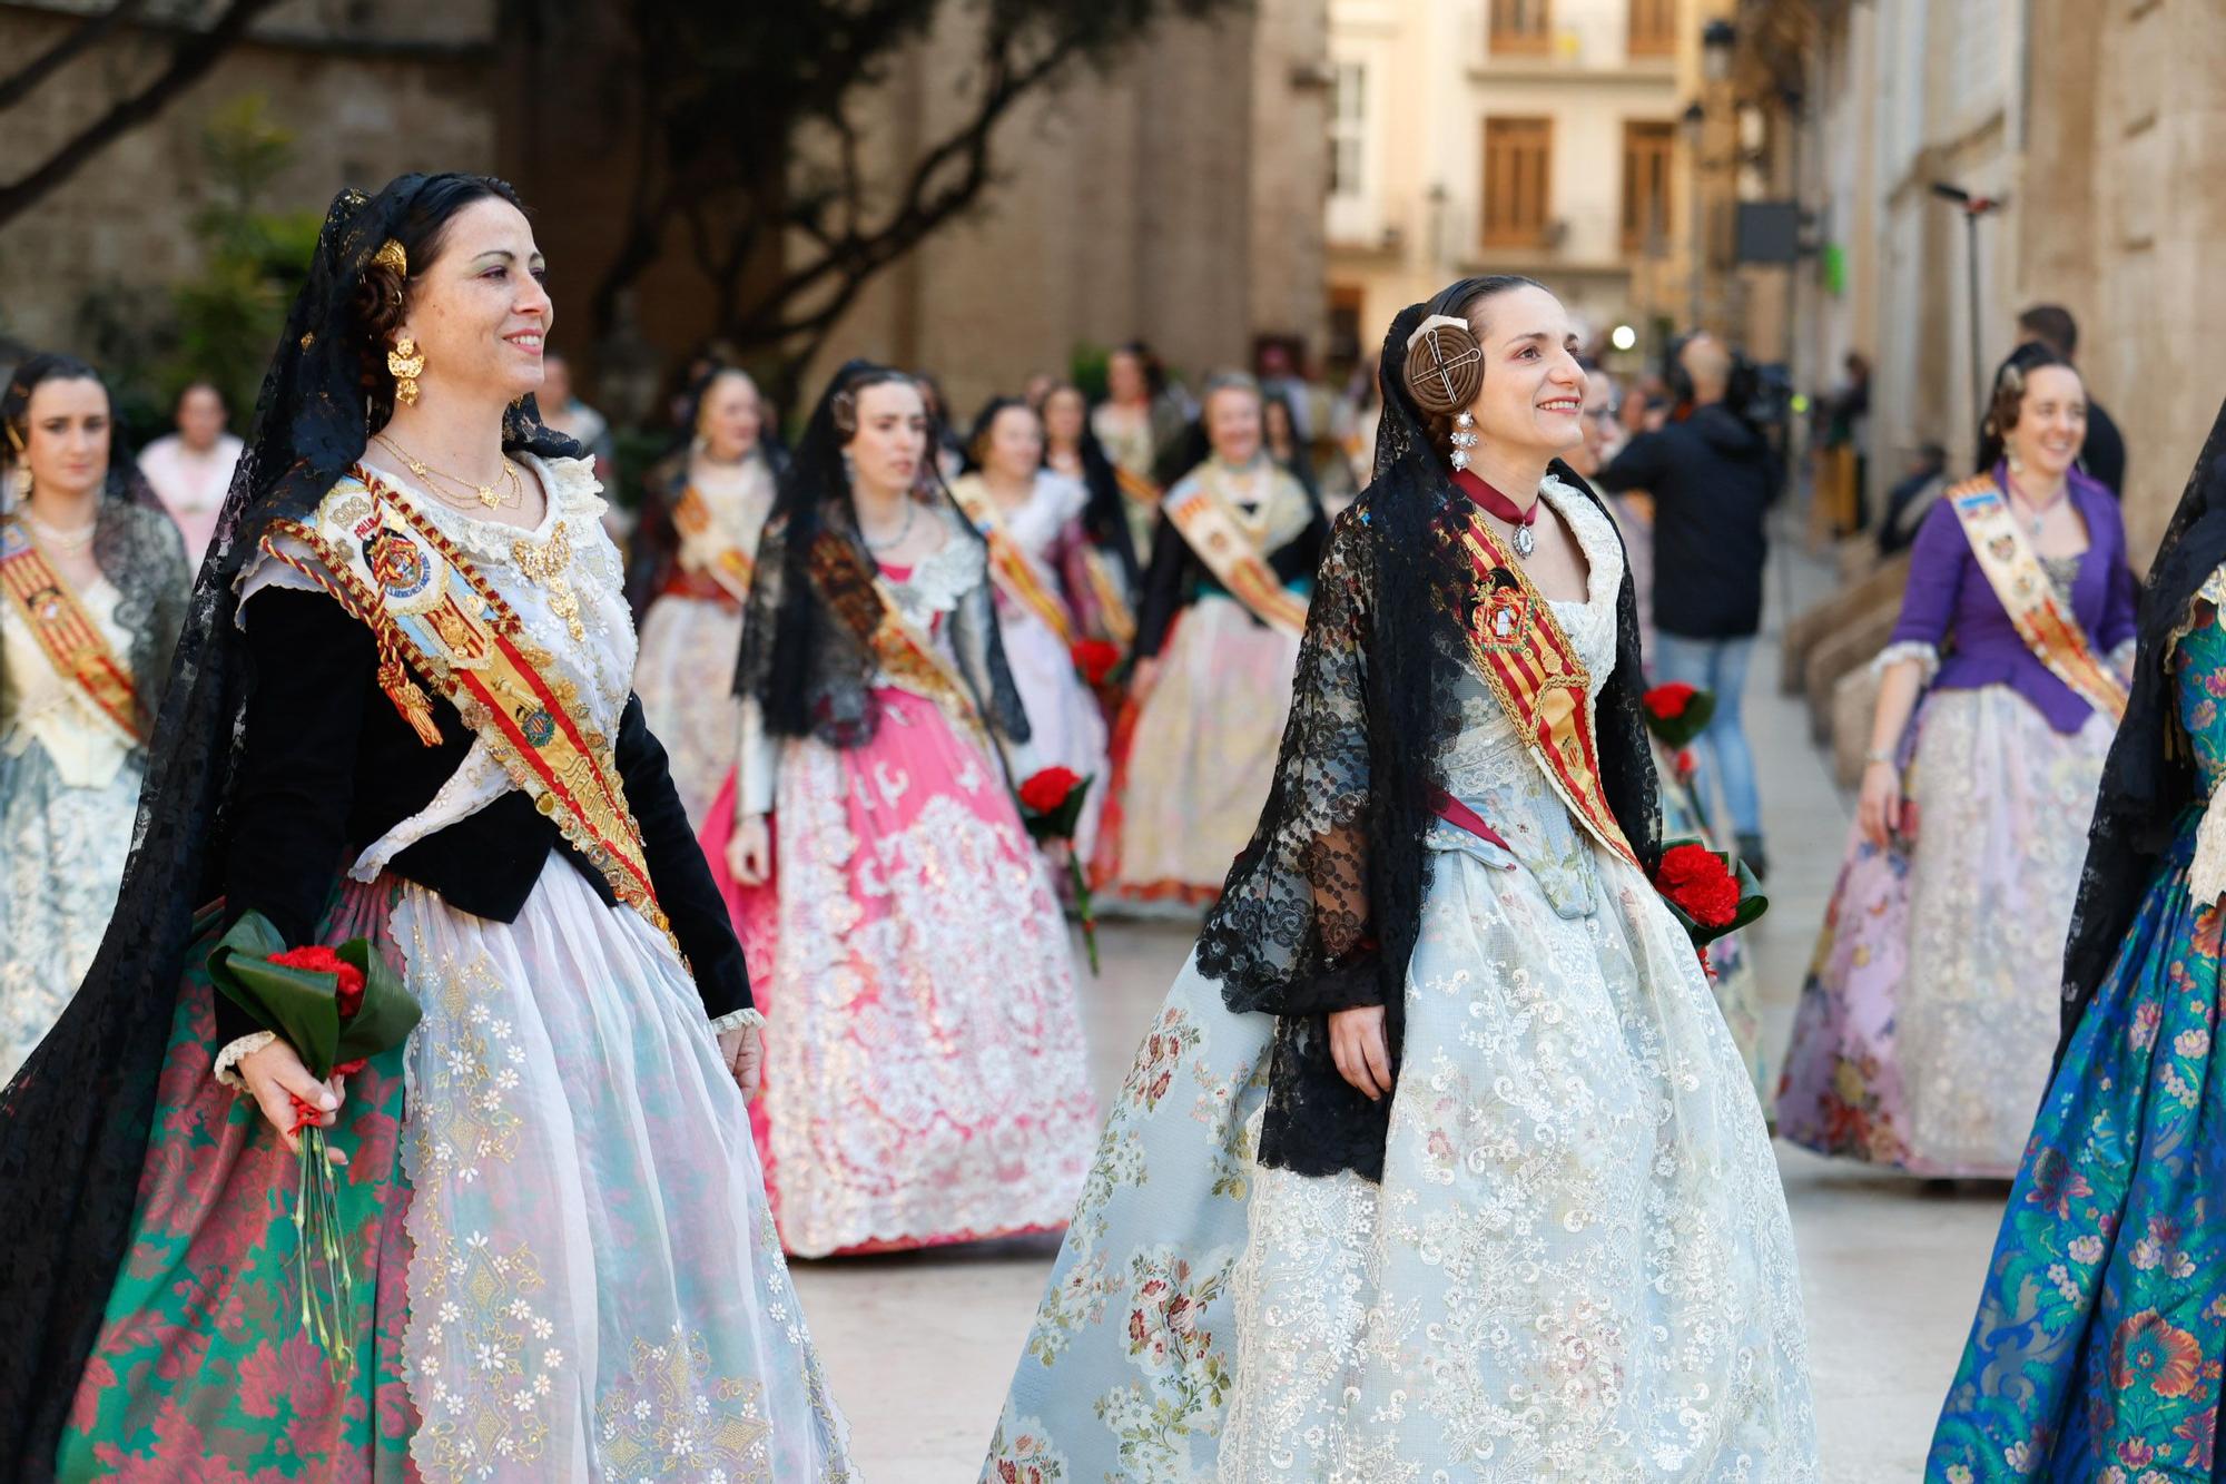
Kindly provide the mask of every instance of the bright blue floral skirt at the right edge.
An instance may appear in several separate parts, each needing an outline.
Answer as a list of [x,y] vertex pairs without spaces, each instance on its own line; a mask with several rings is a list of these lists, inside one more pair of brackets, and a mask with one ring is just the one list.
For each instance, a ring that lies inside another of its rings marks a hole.
[[2190,816],[2041,1103],[1930,1480],[2215,1480],[2226,1361],[2219,929]]

